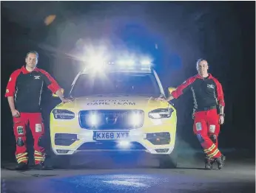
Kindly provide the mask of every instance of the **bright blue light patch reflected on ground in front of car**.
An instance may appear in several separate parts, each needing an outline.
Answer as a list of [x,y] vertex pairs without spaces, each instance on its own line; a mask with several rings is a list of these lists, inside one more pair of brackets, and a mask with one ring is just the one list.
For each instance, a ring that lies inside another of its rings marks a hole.
[[146,192],[152,186],[166,183],[158,175],[78,175],[51,179],[55,192]]

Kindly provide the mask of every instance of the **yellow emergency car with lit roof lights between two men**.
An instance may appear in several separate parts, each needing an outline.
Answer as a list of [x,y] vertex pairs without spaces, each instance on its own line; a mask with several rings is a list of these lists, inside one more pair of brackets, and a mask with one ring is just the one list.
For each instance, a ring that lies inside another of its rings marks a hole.
[[84,69],[73,81],[73,102],[50,113],[55,156],[90,151],[141,151],[157,155],[161,168],[177,165],[176,110],[158,74],[144,63],[107,63]]

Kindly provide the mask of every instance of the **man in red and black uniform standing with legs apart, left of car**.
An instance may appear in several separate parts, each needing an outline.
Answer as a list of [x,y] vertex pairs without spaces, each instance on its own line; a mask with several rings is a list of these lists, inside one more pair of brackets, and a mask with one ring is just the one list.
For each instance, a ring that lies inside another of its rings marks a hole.
[[44,83],[62,102],[65,99],[58,83],[42,69],[36,68],[38,53],[28,52],[26,65],[13,71],[7,84],[5,97],[8,99],[13,115],[13,131],[16,136],[16,169],[27,169],[26,127],[29,125],[34,138],[34,158],[37,169],[44,169],[44,147],[41,138],[44,136],[44,123],[41,117],[41,91]]

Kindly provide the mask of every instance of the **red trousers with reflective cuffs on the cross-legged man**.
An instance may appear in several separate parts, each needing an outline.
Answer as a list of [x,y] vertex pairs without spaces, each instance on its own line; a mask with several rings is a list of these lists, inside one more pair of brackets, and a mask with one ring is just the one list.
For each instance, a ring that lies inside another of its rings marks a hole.
[[220,133],[217,109],[195,112],[194,133],[203,147],[207,158],[218,158],[218,135]]

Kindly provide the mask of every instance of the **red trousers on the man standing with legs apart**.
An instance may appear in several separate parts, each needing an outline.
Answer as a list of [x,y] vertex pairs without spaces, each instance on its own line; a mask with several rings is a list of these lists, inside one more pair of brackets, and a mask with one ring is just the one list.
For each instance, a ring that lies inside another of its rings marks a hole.
[[44,136],[44,123],[41,113],[21,113],[21,116],[13,118],[13,132],[16,137],[16,160],[27,164],[26,128],[29,126],[34,138],[35,164],[44,161],[44,147],[40,146],[41,137]]

